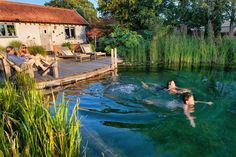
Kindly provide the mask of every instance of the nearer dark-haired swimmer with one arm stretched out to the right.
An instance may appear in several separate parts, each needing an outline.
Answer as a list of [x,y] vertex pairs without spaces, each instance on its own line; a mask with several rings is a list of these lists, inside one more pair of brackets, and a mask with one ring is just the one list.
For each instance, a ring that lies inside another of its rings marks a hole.
[[195,103],[204,103],[204,104],[208,104],[208,105],[212,105],[212,102],[205,102],[205,101],[195,101],[194,97],[191,93],[185,93],[183,96],[183,109],[184,109],[184,114],[186,115],[186,117],[188,118],[188,120],[190,121],[190,124],[192,127],[195,127],[195,122],[194,119],[195,117],[191,116],[191,113],[194,112],[194,105]]

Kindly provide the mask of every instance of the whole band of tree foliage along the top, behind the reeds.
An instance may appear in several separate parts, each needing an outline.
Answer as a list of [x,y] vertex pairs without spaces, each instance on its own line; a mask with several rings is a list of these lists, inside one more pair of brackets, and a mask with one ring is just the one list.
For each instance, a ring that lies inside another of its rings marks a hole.
[[205,28],[208,36],[213,30],[220,35],[225,20],[230,30],[236,23],[236,0],[99,0],[102,16],[111,17],[131,30],[147,30],[163,21],[165,25]]

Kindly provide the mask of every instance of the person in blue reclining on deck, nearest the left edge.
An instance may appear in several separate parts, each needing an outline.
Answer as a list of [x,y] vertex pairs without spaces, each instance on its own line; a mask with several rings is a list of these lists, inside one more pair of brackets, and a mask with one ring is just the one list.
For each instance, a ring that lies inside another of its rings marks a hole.
[[46,75],[49,72],[49,66],[44,66],[39,60],[33,59],[33,58],[26,58],[22,56],[18,56],[17,52],[15,49],[11,46],[8,46],[6,48],[7,52],[7,58],[18,65],[19,67],[29,67],[36,65],[37,67],[40,67],[43,70],[42,75]]

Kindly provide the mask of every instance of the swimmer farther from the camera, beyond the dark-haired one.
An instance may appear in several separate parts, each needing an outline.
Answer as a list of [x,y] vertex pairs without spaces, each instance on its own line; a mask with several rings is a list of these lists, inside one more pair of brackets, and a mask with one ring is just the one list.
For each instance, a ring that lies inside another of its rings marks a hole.
[[[141,83],[142,83],[143,88],[149,88],[149,86],[146,83],[144,83],[143,81],[141,81]],[[169,80],[167,82],[166,87],[155,87],[155,89],[157,91],[167,90],[171,94],[184,94],[184,93],[190,92],[189,89],[177,87],[173,80]]]

